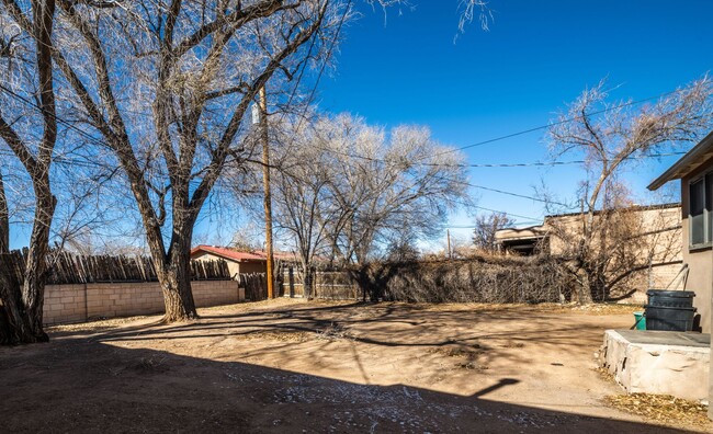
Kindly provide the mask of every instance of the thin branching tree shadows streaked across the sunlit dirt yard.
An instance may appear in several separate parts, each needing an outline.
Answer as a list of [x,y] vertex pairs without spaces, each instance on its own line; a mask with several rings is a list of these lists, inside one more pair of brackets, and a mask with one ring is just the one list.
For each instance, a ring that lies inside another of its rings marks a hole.
[[[464,368],[487,367],[496,359],[531,363],[527,351],[513,351],[525,345],[537,345],[540,350],[552,349],[553,352],[566,345],[569,352],[591,357],[592,346],[600,343],[582,339],[581,324],[557,326],[555,313],[529,315],[514,308],[468,311],[428,310],[418,305],[394,304],[358,302],[328,307],[301,305],[295,309],[203,316],[200,320],[188,323],[127,326],[83,335],[99,342],[159,339],[190,344],[196,339],[252,339],[265,333],[281,333],[283,340],[276,340],[273,345],[251,353],[254,356],[269,356],[278,364],[282,359],[295,357],[291,351],[296,343],[291,338],[303,333],[309,339],[327,338],[312,349],[309,357],[329,358],[330,345],[335,340],[341,339],[352,344],[421,349],[422,353],[440,352],[448,356],[462,356],[463,361],[454,363]],[[497,323],[522,323],[523,319],[527,328],[494,327]],[[444,330],[455,330],[464,323],[469,326],[467,331],[444,334]],[[597,340],[601,340],[601,336],[598,335]]]

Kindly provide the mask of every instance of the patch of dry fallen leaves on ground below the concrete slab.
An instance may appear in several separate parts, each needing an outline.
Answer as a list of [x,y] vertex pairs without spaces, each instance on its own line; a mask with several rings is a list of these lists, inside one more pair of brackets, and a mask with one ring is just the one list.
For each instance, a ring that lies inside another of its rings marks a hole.
[[708,406],[670,395],[610,395],[604,397],[604,403],[666,424],[676,425],[683,422],[693,425],[713,425],[708,419]]

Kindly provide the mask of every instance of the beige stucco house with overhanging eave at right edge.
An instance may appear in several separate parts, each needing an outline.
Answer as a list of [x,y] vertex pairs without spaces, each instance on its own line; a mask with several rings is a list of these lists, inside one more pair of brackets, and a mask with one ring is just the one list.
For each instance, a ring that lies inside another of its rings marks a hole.
[[711,332],[713,288],[713,132],[648,185],[657,190],[681,180],[683,262],[689,266],[686,288],[695,292],[693,306],[703,332]]

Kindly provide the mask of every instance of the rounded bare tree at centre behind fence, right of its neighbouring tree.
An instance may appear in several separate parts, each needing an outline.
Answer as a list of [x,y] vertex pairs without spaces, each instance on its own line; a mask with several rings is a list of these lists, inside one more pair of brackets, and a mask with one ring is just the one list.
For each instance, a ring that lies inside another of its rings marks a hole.
[[371,129],[332,155],[341,175],[329,183],[342,215],[328,231],[342,260],[365,264],[404,228],[419,239],[440,235],[449,210],[467,204],[463,156],[423,127]]

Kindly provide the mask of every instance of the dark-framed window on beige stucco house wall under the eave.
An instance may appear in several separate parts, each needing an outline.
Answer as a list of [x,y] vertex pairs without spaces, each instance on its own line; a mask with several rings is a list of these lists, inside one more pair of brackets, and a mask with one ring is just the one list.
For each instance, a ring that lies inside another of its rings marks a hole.
[[713,236],[713,172],[689,183],[689,247],[711,245]]

